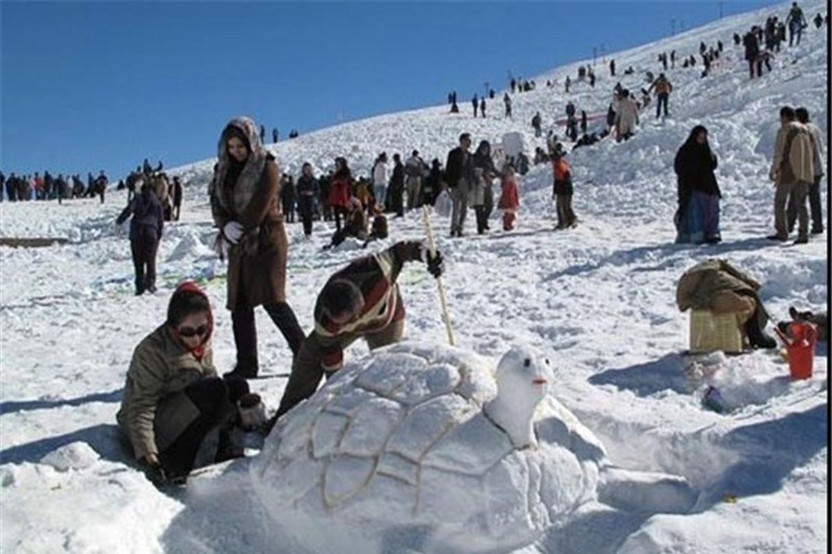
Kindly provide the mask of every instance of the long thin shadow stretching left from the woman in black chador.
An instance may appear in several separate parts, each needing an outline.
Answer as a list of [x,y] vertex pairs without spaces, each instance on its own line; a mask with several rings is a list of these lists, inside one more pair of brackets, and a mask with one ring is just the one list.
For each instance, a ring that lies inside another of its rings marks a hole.
[[[594,272],[605,266],[637,266],[637,264],[641,262],[646,262],[648,260],[653,261],[657,258],[665,261],[662,262],[661,265],[634,267],[633,271],[663,271],[667,268],[667,266],[672,265],[671,260],[675,259],[672,256],[682,252],[705,254],[706,256],[703,257],[720,257],[730,252],[750,252],[753,250],[760,250],[762,248],[770,248],[771,246],[772,243],[765,238],[744,238],[733,243],[719,243],[715,245],[667,243],[656,246],[640,246],[627,250],[617,250],[606,257],[602,257],[597,260],[597,262],[587,262],[582,263],[581,265],[567,267],[559,272],[552,273],[543,279],[543,281],[557,281],[557,279],[561,277],[577,277],[585,273]],[[688,259],[688,257],[686,257],[686,259]]]

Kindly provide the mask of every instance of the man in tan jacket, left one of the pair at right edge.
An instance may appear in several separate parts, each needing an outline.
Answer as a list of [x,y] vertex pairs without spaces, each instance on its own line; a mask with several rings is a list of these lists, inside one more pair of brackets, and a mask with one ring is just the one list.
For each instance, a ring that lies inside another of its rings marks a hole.
[[809,212],[806,197],[815,179],[812,140],[809,130],[797,121],[795,110],[780,110],[780,129],[775,140],[775,156],[770,179],[775,183],[775,231],[768,238],[784,242],[789,238],[786,203],[790,195],[797,208],[798,231],[795,244],[809,242]]

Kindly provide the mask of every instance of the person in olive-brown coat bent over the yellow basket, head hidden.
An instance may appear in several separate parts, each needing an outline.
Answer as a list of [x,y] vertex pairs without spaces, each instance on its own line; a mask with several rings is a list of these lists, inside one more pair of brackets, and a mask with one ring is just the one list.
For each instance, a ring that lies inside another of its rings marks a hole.
[[757,292],[760,283],[725,260],[706,260],[688,269],[676,286],[679,311],[688,308],[733,313],[744,339],[753,348],[774,348],[775,340],[765,334],[769,314]]

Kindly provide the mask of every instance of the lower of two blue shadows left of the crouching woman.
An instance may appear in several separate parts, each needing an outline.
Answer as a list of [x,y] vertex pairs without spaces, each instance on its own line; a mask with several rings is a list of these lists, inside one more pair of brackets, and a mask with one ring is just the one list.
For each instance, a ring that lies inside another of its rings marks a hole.
[[47,437],[46,439],[18,444],[12,446],[12,448],[0,450],[0,464],[37,463],[52,450],[78,441],[89,444],[98,455],[111,462],[133,462],[118,426],[116,424],[97,424],[92,425],[92,427],[78,429],[72,433]]

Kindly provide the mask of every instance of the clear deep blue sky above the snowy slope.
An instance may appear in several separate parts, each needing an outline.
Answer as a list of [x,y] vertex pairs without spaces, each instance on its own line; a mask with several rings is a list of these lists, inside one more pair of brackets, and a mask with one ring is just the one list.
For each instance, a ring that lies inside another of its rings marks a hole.
[[[0,2],[0,169],[123,177],[215,154],[234,115],[281,140],[460,100],[715,20],[720,2]],[[722,2],[727,15],[777,2]]]

